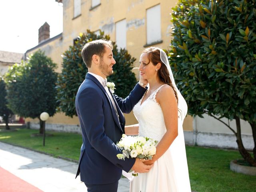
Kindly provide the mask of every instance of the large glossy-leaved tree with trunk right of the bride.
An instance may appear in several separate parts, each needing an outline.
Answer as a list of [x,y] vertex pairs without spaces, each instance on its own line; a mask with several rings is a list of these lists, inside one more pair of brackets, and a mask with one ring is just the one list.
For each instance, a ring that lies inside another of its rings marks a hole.
[[[236,120],[242,157],[256,166],[256,1],[180,0],[173,8],[170,63],[188,114]],[[240,119],[252,127],[254,155],[244,148]]]

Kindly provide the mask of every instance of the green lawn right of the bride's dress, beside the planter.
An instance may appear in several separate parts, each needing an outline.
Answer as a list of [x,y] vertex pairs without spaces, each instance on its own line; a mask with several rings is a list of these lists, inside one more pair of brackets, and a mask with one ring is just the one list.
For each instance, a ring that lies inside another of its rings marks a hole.
[[231,160],[238,151],[186,147],[192,190],[196,192],[256,192],[256,176],[232,172]]

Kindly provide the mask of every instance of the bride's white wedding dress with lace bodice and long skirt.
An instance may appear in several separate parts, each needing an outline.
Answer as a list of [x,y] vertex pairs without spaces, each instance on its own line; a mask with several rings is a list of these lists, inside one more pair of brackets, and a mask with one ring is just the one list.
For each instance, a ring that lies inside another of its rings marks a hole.
[[[160,86],[141,104],[143,96],[133,109],[139,122],[139,136],[151,137],[158,142],[166,133],[163,112],[156,101],[156,94],[163,86],[168,85]],[[178,96],[184,100],[180,92]],[[179,116],[181,123],[178,124],[178,137],[154,162],[148,173],[139,173],[134,177],[130,183],[130,192],[191,192],[182,129],[184,115],[183,111]]]

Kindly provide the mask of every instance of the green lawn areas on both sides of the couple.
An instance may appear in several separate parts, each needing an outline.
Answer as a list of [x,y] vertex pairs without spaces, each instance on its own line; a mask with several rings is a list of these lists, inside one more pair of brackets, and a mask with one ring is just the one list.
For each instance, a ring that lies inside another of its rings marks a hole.
[[[47,132],[46,146],[42,137],[30,137],[38,130],[20,129],[0,132],[0,141],[24,146],[40,152],[78,160],[82,137],[79,134]],[[190,183],[196,192],[256,192],[256,176],[247,176],[229,169],[231,160],[241,158],[238,151],[187,146]]]

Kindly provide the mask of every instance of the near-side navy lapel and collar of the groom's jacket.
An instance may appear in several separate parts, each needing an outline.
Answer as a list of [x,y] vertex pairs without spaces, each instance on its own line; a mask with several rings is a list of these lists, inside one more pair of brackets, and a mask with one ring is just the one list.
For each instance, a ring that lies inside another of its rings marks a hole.
[[[109,104],[110,104],[110,108],[111,108],[111,112],[112,112],[112,116],[113,116],[113,118],[114,118],[114,121],[116,122],[116,125],[118,126],[118,128],[123,132],[123,130],[122,130],[122,128],[121,128],[121,125],[120,125],[120,122],[119,122],[119,120],[118,120],[118,116],[116,115],[116,111],[115,111],[115,109],[114,109],[114,106],[113,106],[113,104],[112,104],[112,102],[111,102],[111,100],[110,100],[110,98],[109,98],[109,96],[108,96],[108,93],[106,92],[106,90],[105,90],[105,88],[102,86],[102,84],[100,84],[100,82],[94,77],[94,76],[92,76],[91,74],[86,74],[86,77],[85,77],[86,79],[90,79],[90,80],[92,80],[95,84],[97,84],[97,86],[104,92],[104,94],[105,94],[105,96],[107,97],[107,99],[108,99],[108,102],[109,102]],[[110,92],[110,94],[111,94],[111,92]],[[113,96],[112,96],[113,97]],[[116,104],[116,100],[114,99],[114,102],[115,102],[115,104]],[[117,107],[117,110],[119,109],[119,107]],[[120,110],[120,109],[119,109]],[[121,112],[122,113],[122,112]],[[119,112],[118,112],[118,114],[119,114]],[[120,114],[119,114],[120,115]]]

